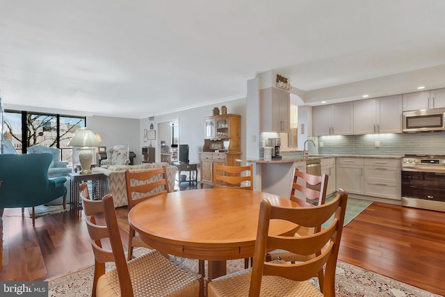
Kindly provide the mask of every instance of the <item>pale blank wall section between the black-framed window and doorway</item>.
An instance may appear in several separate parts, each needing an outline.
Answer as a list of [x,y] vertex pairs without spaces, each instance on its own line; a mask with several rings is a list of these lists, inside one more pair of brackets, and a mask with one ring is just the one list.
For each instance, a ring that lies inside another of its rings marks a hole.
[[135,164],[142,162],[139,122],[140,120],[138,119],[103,117],[99,115],[86,117],[88,129],[101,136],[101,146],[129,145],[130,151],[136,154]]

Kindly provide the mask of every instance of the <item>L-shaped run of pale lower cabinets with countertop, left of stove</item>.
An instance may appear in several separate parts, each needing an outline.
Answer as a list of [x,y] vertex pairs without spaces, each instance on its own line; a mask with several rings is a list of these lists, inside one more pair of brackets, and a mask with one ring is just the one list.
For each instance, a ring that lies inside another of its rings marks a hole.
[[319,163],[318,172],[328,175],[327,195],[343,188],[351,197],[401,204],[401,156],[300,154],[245,161],[254,163],[255,191],[289,197],[293,168],[307,172]]

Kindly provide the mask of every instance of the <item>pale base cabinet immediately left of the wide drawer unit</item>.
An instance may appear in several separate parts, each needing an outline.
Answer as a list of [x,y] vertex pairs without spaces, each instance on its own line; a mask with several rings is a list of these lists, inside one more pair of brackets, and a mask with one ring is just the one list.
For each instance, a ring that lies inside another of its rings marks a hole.
[[337,158],[337,188],[343,188],[350,194],[364,194],[364,159]]

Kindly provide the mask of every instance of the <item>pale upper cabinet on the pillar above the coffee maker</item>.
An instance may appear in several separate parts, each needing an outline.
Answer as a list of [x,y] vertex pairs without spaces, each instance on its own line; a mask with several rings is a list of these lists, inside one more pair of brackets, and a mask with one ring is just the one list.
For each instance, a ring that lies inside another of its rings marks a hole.
[[289,133],[290,105],[291,96],[284,90],[259,90],[260,131]]

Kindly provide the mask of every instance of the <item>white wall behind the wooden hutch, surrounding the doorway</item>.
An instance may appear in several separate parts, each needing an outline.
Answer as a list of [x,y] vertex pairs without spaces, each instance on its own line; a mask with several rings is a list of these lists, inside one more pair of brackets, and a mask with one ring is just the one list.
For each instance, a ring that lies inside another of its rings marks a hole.
[[[158,124],[162,122],[172,122],[177,120],[179,123],[179,144],[188,145],[188,159],[190,163],[200,163],[200,156],[198,152],[202,151],[204,145],[204,118],[213,115],[213,107],[227,106],[227,113],[235,113],[241,115],[241,158],[245,158],[245,99],[236,99],[220,104],[209,104],[207,106],[200,106],[194,109],[185,111],[177,111],[166,115],[156,115],[154,120],[144,118],[140,120],[139,136],[140,147],[147,146],[149,143],[143,141],[144,129],[149,129],[151,123],[154,129],[158,129]],[[160,138],[156,131],[156,162],[160,161],[160,151],[157,144]]]

